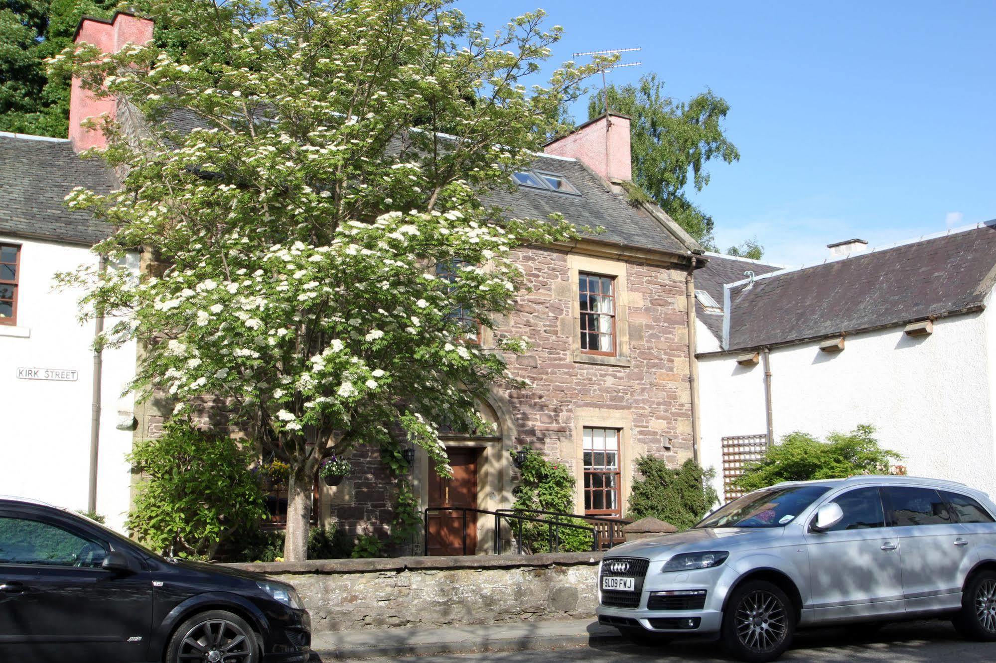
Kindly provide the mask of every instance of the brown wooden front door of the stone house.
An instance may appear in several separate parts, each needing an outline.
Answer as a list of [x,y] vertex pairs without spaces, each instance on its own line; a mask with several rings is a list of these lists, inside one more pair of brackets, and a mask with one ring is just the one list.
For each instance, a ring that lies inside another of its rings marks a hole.
[[[477,508],[477,457],[480,449],[449,449],[452,477],[440,477],[429,468],[429,507]],[[466,551],[464,551],[466,533]],[[455,511],[429,512],[429,554],[477,552],[477,514]]]

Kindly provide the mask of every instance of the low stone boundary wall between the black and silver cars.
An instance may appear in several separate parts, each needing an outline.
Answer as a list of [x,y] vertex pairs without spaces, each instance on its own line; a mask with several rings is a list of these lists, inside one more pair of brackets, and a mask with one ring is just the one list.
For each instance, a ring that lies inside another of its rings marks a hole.
[[315,632],[592,617],[601,552],[227,564],[293,584]]

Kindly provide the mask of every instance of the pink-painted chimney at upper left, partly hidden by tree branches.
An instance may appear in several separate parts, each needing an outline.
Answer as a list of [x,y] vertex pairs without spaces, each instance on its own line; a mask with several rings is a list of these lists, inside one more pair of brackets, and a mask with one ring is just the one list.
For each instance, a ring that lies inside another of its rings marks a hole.
[[[80,21],[73,38],[75,44],[93,44],[105,53],[118,53],[125,44],[144,46],[152,41],[152,22],[130,14],[118,12],[110,21],[85,16]],[[118,115],[118,102],[113,98],[98,99],[83,89],[80,79],[73,77],[69,98],[69,139],[73,149],[82,152],[90,147],[107,147],[108,141],[99,130],[87,129],[80,124],[88,117],[108,113]]]

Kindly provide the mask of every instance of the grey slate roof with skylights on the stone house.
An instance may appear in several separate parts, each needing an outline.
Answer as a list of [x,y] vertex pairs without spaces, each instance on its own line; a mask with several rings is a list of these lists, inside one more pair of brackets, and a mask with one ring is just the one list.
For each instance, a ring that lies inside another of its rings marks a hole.
[[603,233],[588,236],[596,241],[690,254],[660,222],[630,205],[624,197],[607,190],[599,176],[582,162],[537,155],[533,168],[562,175],[581,195],[520,186],[514,192],[494,191],[487,196],[487,201],[509,208],[515,217],[546,219],[559,212],[566,221],[580,228],[605,228]]

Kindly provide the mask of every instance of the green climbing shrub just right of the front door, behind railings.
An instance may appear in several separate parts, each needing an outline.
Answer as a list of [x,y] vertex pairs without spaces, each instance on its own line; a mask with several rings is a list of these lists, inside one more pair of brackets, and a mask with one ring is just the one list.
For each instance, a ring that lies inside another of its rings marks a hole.
[[[511,452],[514,457],[515,452]],[[560,461],[549,461],[542,455],[530,450],[526,460],[519,468],[521,481],[513,489],[515,497],[513,509],[536,509],[539,511],[556,511],[564,514],[574,513],[575,478],[570,469]],[[524,514],[530,516],[531,514]],[[539,517],[539,516],[537,516]],[[576,518],[559,518],[544,516],[551,522],[570,523],[591,528],[592,524]],[[512,532],[518,536],[519,524],[511,523]],[[522,539],[524,550],[529,552],[551,552],[551,530],[560,538],[560,552],[591,551],[594,539],[591,532],[575,528],[551,528],[540,523],[524,522]]]

